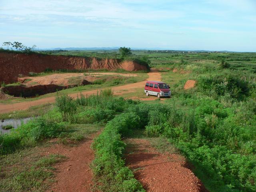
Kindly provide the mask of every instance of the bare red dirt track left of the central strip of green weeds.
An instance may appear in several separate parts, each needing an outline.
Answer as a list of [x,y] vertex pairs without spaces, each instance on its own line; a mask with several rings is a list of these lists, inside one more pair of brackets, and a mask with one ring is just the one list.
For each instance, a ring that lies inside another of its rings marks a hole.
[[42,155],[61,154],[67,160],[55,166],[56,178],[49,192],[90,192],[93,185],[93,174],[89,164],[94,159],[94,153],[90,148],[93,138],[100,132],[90,135],[86,141],[77,147],[66,147],[55,144],[44,148]]

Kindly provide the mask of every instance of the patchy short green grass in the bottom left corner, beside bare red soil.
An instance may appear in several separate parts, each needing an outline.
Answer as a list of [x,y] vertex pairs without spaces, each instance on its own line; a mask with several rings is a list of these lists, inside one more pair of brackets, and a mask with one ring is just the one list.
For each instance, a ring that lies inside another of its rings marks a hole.
[[[41,148],[41,147],[40,147]],[[39,148],[25,149],[0,156],[0,190],[36,192],[48,189],[54,179],[54,164],[65,160],[62,155],[40,156]]]

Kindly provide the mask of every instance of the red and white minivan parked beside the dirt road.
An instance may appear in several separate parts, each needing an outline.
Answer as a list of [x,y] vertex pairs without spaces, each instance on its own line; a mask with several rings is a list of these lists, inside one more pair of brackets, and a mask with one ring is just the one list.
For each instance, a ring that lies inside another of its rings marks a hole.
[[171,96],[169,85],[159,81],[147,81],[144,92],[146,96],[156,95],[158,98]]

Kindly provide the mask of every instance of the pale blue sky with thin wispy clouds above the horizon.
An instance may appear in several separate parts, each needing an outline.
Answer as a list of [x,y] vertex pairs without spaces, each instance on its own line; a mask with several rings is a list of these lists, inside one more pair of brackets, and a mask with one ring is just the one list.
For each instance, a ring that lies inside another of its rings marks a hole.
[[256,52],[256,0],[0,0],[6,41]]

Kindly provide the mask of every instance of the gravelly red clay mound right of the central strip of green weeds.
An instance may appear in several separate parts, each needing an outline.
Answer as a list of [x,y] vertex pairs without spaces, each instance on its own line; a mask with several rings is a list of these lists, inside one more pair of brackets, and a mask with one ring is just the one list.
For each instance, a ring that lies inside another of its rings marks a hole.
[[184,157],[161,154],[144,139],[126,139],[126,164],[147,192],[207,192],[201,181],[186,168]]

